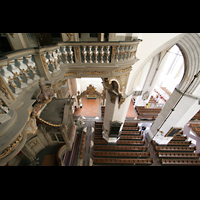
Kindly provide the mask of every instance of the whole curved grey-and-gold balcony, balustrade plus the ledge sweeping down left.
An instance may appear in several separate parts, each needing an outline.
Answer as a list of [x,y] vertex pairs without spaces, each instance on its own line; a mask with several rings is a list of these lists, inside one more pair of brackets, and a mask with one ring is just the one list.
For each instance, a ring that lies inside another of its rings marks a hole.
[[[10,148],[10,145],[12,146],[16,138],[24,131],[31,106],[35,102],[31,96],[38,88],[39,79],[48,80],[56,88],[62,84],[62,81],[56,80],[61,80],[62,77],[71,78],[71,75],[108,77],[113,76],[113,69],[118,74],[128,72],[131,70],[131,65],[137,61],[136,51],[139,42],[140,40],[62,42],[1,54],[0,164],[1,159],[15,150],[15,148]],[[24,112],[26,114],[19,121],[17,115],[22,115]],[[18,123],[16,129],[14,129],[15,123]],[[7,134],[9,134],[8,137]],[[26,140],[26,134],[24,134],[23,132],[22,138]],[[20,143],[22,146],[25,143],[24,140],[20,140],[20,142],[23,141]],[[20,147],[17,149],[19,152]]]

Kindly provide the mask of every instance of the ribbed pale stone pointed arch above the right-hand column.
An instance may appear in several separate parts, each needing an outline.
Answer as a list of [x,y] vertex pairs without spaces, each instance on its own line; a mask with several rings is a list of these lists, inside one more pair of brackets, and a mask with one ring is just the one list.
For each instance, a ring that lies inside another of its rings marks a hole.
[[[183,37],[177,37],[166,42],[164,45],[160,46],[152,56],[149,56],[145,62],[136,70],[134,76],[132,77],[131,87],[133,87],[135,77],[138,72],[145,66],[145,64],[153,57],[155,57],[159,52],[165,49],[171,48],[173,45],[177,45],[184,57],[184,74],[181,82],[179,83],[178,89],[182,92],[185,91],[188,84],[194,78],[194,75],[200,71],[200,35],[197,33],[187,33]],[[163,56],[164,57],[164,56]],[[195,88],[200,84],[200,77],[196,78],[193,84],[188,89],[188,94],[193,94]]]

